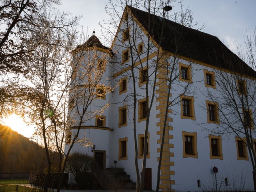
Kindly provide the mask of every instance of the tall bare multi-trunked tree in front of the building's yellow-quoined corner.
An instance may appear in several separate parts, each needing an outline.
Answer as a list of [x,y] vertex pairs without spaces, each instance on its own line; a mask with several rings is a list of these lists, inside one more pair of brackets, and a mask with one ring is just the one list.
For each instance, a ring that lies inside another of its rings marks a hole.
[[[180,103],[180,95],[193,95],[193,89],[190,89],[191,83],[179,83],[177,79],[180,77],[179,71],[179,55],[186,51],[190,51],[191,45],[184,46],[184,35],[188,30],[182,32],[182,27],[192,27],[193,15],[187,10],[181,10],[174,14],[176,21],[180,24],[174,24],[170,30],[170,22],[167,19],[160,19],[157,15],[163,16],[162,8],[168,6],[173,1],[120,1],[118,4],[110,1],[109,15],[112,17],[110,24],[113,28],[118,28],[118,32],[114,38],[112,48],[114,53],[121,55],[114,63],[114,78],[127,77],[127,82],[132,81],[132,93],[127,93],[122,103],[128,104],[132,109],[133,117],[133,135],[134,135],[134,148],[135,148],[135,168],[136,168],[136,182],[137,191],[142,191],[144,188],[146,158],[148,153],[148,129],[150,125],[150,112],[154,106],[154,99],[160,101],[166,110],[161,110],[159,116],[160,123],[170,121],[169,112],[170,107]],[[120,7],[118,6],[120,5]],[[182,5],[182,3],[181,3]],[[121,8],[124,13],[122,17],[118,12]],[[137,10],[136,8],[144,9],[144,11]],[[184,12],[183,12],[184,11]],[[120,24],[116,19],[120,19]],[[196,23],[195,23],[196,24]],[[172,33],[172,30],[174,31]],[[111,34],[111,31],[108,30]],[[173,41],[170,43],[171,38]],[[172,47],[171,47],[172,46]],[[176,48],[173,48],[175,47]],[[186,47],[186,48],[184,48]],[[117,49],[119,48],[119,49]],[[170,57],[170,49],[174,56]],[[120,54],[122,53],[122,54]],[[126,56],[127,55],[127,56]],[[188,54],[189,55],[189,54]],[[120,64],[121,60],[121,64]],[[188,66],[190,67],[190,65]],[[127,72],[128,71],[128,72]],[[192,77],[190,77],[192,78]],[[172,84],[180,84],[182,89],[180,95],[176,98],[170,99],[170,90]],[[139,85],[139,86],[138,86]],[[159,95],[157,95],[159,94]],[[144,109],[142,109],[144,108]],[[142,112],[144,110],[144,112]],[[137,112],[139,111],[139,112]],[[165,114],[165,115],[164,115]],[[139,172],[138,167],[138,143],[137,133],[138,128],[136,125],[137,118],[140,121],[146,121],[144,129],[144,148],[142,155],[142,169]],[[168,126],[169,128],[170,126]],[[164,142],[164,133],[161,135],[162,142]],[[158,184],[161,167],[162,147],[160,151],[160,159],[158,165]],[[157,187],[158,189],[158,187]]]

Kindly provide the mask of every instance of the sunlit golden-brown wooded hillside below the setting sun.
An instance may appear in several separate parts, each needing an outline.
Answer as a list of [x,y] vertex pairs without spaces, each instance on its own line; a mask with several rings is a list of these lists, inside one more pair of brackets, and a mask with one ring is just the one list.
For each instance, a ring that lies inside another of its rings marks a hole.
[[[57,163],[57,153],[51,158]],[[56,160],[54,160],[56,159]],[[44,172],[47,166],[45,150],[8,126],[0,125],[0,172]]]

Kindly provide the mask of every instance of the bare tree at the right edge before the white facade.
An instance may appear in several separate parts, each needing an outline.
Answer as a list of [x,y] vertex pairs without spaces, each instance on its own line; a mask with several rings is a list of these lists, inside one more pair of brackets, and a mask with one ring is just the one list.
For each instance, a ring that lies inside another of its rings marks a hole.
[[[238,47],[240,58],[223,46],[221,56],[224,65],[218,65],[214,70],[216,89],[207,89],[204,93],[210,101],[218,103],[216,110],[219,113],[219,124],[207,131],[212,135],[224,135],[227,138],[235,136],[238,158],[248,159],[250,156],[252,170],[255,173],[256,31],[254,30],[252,34],[247,33],[244,41],[246,50],[243,51]],[[215,55],[217,60],[218,53]],[[212,58],[213,63],[216,62],[215,59]],[[211,115],[209,106],[202,105],[202,107],[208,115]],[[254,175],[254,190],[256,190],[255,184]]]

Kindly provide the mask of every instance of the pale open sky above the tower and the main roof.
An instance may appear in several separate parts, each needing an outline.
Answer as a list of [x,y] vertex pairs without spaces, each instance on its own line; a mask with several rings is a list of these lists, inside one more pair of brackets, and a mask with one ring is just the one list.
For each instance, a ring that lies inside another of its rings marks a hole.
[[[62,0],[60,10],[82,15],[80,25],[83,26],[85,34],[88,32],[91,36],[95,29],[95,35],[101,38],[103,36],[98,23],[104,24],[103,20],[110,18],[105,11],[106,3],[108,0]],[[244,46],[246,30],[252,32],[256,26],[256,0],[184,0],[183,5],[194,13],[198,27],[205,25],[202,32],[217,36],[235,53],[236,46]],[[171,6],[173,10],[180,9],[178,4]]]

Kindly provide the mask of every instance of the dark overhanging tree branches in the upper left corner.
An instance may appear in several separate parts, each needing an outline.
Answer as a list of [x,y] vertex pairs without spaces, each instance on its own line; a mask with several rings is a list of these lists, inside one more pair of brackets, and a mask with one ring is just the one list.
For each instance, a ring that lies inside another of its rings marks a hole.
[[0,74],[28,73],[26,60],[30,58],[25,40],[28,28],[58,0],[1,0],[0,2]]

